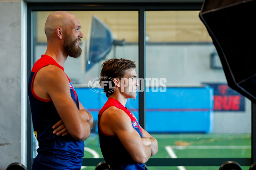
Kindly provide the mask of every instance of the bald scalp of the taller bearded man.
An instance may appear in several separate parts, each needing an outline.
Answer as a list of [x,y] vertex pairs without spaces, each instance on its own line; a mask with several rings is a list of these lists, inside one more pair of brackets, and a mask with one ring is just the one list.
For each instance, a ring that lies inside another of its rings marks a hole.
[[74,17],[76,16],[67,11],[52,12],[47,17],[44,26],[44,32],[47,36],[47,39],[52,36],[52,33],[55,31],[55,28],[61,27],[62,29],[65,29],[70,23],[72,23]]

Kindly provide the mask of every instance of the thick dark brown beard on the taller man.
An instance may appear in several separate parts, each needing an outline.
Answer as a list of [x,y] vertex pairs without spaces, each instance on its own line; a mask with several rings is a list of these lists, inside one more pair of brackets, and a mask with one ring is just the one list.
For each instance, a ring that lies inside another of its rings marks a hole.
[[81,56],[82,49],[78,46],[76,47],[76,40],[72,40],[70,36],[64,38],[64,50],[67,52],[67,55],[73,58],[78,58]]

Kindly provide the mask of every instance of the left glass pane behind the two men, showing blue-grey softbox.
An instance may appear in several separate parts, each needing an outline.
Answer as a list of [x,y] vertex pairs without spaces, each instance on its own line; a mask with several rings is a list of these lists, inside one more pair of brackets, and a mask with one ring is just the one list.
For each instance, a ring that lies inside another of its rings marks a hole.
[[[99,147],[97,119],[99,110],[107,101],[98,88],[101,65],[111,58],[131,59],[137,65],[138,74],[138,12],[137,11],[70,11],[79,19],[81,32],[81,57],[68,57],[64,71],[73,83],[79,100],[92,114],[94,125],[90,137],[84,141],[84,158],[103,158]],[[33,62],[35,63],[47,49],[44,24],[51,11],[34,12]],[[96,84],[95,84],[96,83]],[[126,107],[138,116],[138,98],[128,99]],[[34,139],[33,156],[36,156]]]

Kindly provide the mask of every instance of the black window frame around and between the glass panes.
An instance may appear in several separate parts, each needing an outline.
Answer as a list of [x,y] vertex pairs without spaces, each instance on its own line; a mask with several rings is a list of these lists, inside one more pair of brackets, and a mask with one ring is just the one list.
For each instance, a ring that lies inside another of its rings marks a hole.
[[[27,77],[32,69],[33,54],[33,12],[34,11],[138,11],[139,21],[139,77],[145,78],[145,11],[192,11],[201,10],[203,3],[173,3],[155,2],[148,3],[27,3]],[[199,19],[199,18],[198,18]],[[144,83],[145,85],[145,83]],[[145,89],[145,87],[144,87]],[[145,92],[139,93],[139,123],[145,127]],[[31,169],[32,157],[32,118],[27,102],[27,168]],[[251,158],[151,158],[147,166],[220,166],[225,161],[236,161],[241,166],[250,166],[255,162],[256,149],[256,105],[252,103],[252,150]],[[96,166],[103,158],[84,158],[83,166]]]

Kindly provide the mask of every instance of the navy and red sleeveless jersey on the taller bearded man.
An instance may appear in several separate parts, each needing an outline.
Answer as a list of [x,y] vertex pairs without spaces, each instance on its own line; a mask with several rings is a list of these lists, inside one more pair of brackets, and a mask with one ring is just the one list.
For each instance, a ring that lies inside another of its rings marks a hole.
[[[42,99],[33,91],[33,80],[37,71],[47,65],[56,65],[64,71],[52,57],[42,55],[32,68],[29,84],[29,104],[35,136],[39,143],[38,155],[35,157],[32,170],[80,170],[84,156],[84,142],[76,141],[68,134],[53,134],[52,126],[61,120],[51,99]],[[67,77],[68,78],[68,77]],[[79,108],[79,100],[69,80],[70,94]]]

